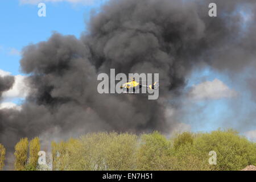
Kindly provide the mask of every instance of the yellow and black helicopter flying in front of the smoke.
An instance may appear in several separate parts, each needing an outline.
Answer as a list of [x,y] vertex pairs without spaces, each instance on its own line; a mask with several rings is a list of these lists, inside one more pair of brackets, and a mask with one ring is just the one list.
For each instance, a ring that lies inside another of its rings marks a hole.
[[150,90],[152,89],[158,89],[159,84],[158,82],[154,82],[152,85],[142,85],[139,82],[135,80],[135,78],[132,78],[130,82],[126,82],[122,86],[120,86],[121,89],[123,89],[123,93],[135,93],[136,90],[145,87],[149,88]]

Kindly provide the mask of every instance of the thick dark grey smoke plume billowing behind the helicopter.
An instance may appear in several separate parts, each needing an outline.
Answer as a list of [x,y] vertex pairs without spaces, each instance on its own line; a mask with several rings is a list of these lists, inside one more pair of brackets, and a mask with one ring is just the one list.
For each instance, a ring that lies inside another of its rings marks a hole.
[[[217,17],[208,15],[210,2]],[[193,68],[239,72],[255,61],[255,14],[245,30],[241,7],[256,12],[254,0],[113,0],[92,14],[80,39],[55,33],[25,47],[20,66],[30,90],[21,110],[1,111],[0,143],[10,150],[21,137],[46,134],[169,132],[176,121],[165,117],[166,101],[182,93]],[[159,100],[98,94],[97,75],[110,68],[159,73]]]

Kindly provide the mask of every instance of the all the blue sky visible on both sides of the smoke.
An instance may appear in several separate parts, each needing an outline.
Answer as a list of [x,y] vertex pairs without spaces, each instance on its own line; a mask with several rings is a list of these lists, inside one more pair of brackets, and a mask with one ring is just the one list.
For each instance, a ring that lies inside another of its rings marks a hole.
[[[89,19],[90,11],[99,6],[98,3],[74,5],[70,2],[47,2],[47,16],[39,17],[37,5],[20,4],[18,0],[0,1],[0,69],[12,75],[22,74],[19,69],[22,48],[31,43],[47,40],[53,31],[79,38],[81,32],[86,31],[85,22]],[[191,125],[192,131],[211,131],[219,127],[239,129],[241,121],[256,108],[255,103],[251,102],[250,94],[241,88],[241,83],[209,68],[194,71],[188,79],[187,88],[214,79],[221,80],[230,89],[236,90],[238,96],[194,101],[193,109],[191,105],[190,107],[184,105],[189,117],[184,117],[181,122]],[[6,101],[19,104],[21,99],[11,98]],[[240,117],[234,117],[237,115],[237,110],[231,109],[233,108],[231,106],[238,103]],[[200,113],[197,109],[200,109]],[[249,130],[256,130],[256,126],[248,125],[241,129],[242,132]]]

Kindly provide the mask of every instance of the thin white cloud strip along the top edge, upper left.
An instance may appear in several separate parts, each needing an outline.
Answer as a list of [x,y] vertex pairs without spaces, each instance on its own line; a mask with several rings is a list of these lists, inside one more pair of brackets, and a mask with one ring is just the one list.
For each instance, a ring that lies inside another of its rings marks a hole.
[[82,3],[86,5],[90,5],[95,0],[19,0],[22,4],[30,4],[30,5],[37,5],[40,2],[70,2],[70,3]]

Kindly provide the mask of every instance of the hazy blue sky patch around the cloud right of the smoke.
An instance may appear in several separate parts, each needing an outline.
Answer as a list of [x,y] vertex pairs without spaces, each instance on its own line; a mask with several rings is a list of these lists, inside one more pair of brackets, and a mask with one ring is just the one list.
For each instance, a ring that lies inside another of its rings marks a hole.
[[[230,89],[236,90],[237,96],[233,98],[222,97],[212,100],[197,100],[190,104],[183,105],[187,114],[183,122],[191,125],[192,131],[212,131],[218,128],[233,128],[243,132],[255,130],[252,123],[256,119],[254,115],[256,104],[251,100],[251,94],[247,90],[245,78],[251,73],[245,70],[237,75],[228,75],[210,69],[196,69],[187,80],[187,88],[198,85],[205,80],[221,80]],[[186,108],[188,107],[188,108]],[[256,116],[256,115],[255,115]],[[253,119],[247,125],[246,119]]]

